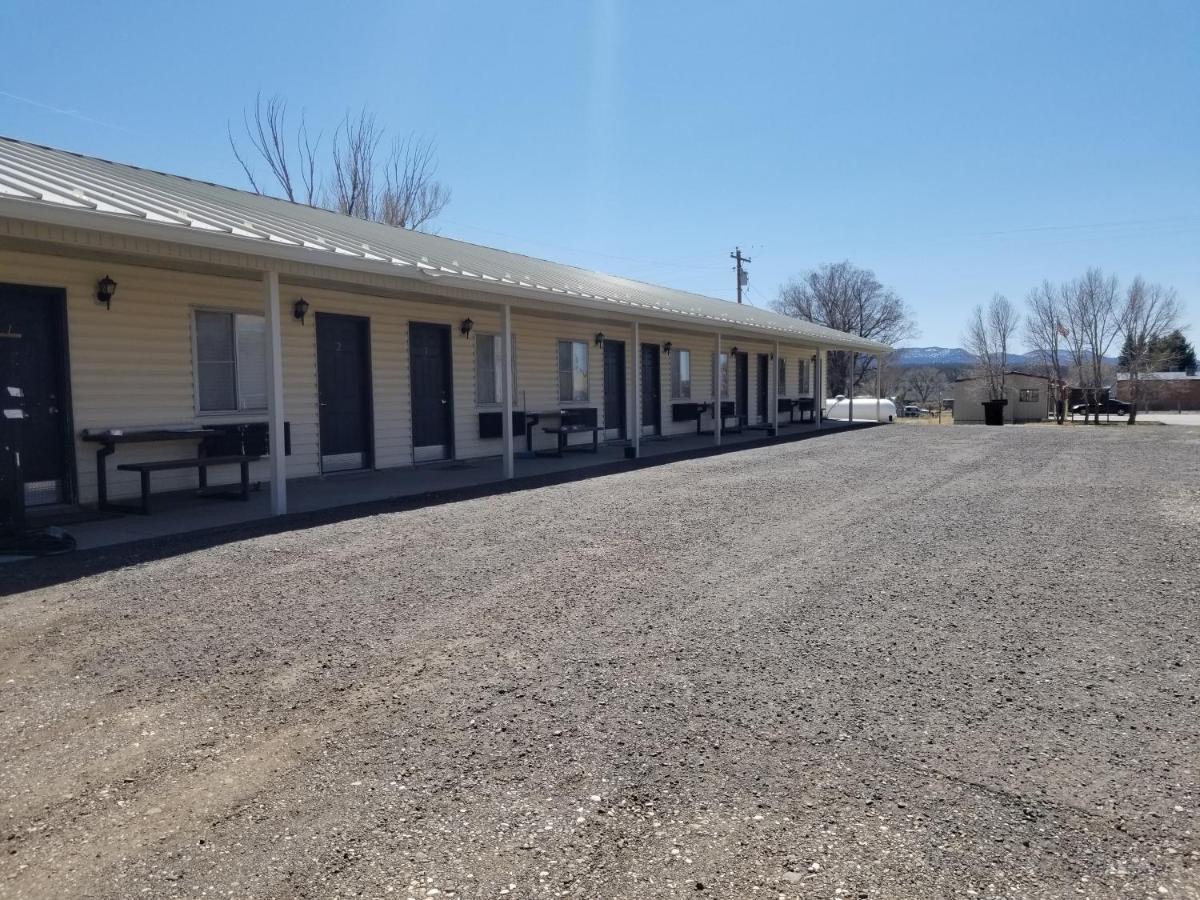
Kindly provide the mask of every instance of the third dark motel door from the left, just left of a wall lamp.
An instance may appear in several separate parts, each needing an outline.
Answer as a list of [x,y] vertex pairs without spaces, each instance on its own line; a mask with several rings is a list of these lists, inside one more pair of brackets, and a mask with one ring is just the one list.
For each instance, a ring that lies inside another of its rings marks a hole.
[[408,352],[413,383],[413,458],[449,460],[454,452],[454,376],[450,326],[410,323]]

